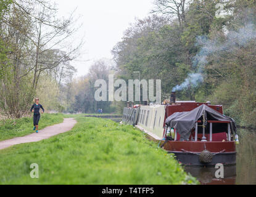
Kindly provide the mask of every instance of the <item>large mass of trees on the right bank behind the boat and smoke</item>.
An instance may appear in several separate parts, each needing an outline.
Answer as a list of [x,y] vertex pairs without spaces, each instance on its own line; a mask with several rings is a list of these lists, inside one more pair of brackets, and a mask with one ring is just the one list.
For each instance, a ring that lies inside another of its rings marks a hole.
[[229,1],[218,16],[217,0],[155,0],[151,16],[126,30],[112,50],[118,74],[133,78],[162,79],[167,98],[189,73],[204,81],[178,90],[181,100],[212,100],[240,125],[256,127],[256,3]]

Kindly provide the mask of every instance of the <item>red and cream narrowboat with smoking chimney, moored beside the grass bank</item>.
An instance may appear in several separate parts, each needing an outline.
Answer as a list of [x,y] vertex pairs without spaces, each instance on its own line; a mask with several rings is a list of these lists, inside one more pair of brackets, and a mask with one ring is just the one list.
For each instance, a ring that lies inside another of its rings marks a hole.
[[176,101],[171,92],[167,104],[128,105],[122,123],[138,127],[185,166],[236,164],[236,124],[221,105]]

